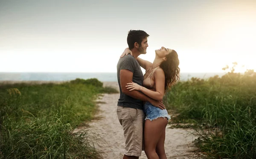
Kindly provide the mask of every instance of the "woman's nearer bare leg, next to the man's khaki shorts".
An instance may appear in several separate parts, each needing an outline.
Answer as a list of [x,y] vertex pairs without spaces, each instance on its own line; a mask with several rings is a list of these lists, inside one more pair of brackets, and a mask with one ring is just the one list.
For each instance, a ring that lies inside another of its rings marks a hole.
[[155,120],[146,120],[144,127],[144,139],[145,139],[145,153],[148,159],[159,159],[156,152],[157,143],[165,131],[167,123],[166,118],[158,118]]

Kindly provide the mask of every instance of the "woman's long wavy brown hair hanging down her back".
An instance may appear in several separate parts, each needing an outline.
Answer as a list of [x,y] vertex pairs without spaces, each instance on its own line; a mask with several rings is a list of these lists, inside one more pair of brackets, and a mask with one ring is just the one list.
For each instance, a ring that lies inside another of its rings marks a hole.
[[166,55],[166,61],[160,64],[165,75],[165,91],[171,90],[171,87],[180,80],[180,61],[178,54],[175,50],[172,50],[168,55]]

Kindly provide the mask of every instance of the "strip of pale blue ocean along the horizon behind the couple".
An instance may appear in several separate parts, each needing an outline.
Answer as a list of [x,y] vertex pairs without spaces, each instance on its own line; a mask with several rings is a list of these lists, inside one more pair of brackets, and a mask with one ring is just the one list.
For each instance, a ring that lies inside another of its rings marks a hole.
[[[180,80],[189,78],[209,78],[214,75],[222,76],[224,72],[216,73],[180,73]],[[116,73],[88,72],[0,72],[0,81],[70,81],[76,78],[97,78],[99,81],[117,81]]]

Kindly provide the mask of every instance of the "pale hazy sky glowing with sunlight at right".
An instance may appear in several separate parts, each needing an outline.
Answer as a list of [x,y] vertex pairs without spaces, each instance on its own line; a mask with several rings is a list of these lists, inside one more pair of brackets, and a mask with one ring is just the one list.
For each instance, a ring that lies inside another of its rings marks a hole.
[[0,72],[116,72],[131,29],[180,72],[256,70],[256,0],[0,0]]

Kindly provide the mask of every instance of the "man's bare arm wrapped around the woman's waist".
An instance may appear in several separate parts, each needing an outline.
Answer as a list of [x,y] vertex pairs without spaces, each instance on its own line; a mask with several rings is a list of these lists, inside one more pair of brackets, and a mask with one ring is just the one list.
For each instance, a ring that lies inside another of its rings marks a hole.
[[160,101],[156,101],[152,98],[149,98],[147,95],[137,90],[129,91],[128,89],[126,89],[125,87],[126,84],[132,81],[133,72],[131,72],[128,69],[121,69],[119,76],[120,76],[120,85],[121,85],[122,93],[124,93],[125,95],[129,95],[132,98],[139,99],[141,101],[148,101],[151,104],[153,104],[155,107],[159,107],[160,109],[165,109],[164,105]]

